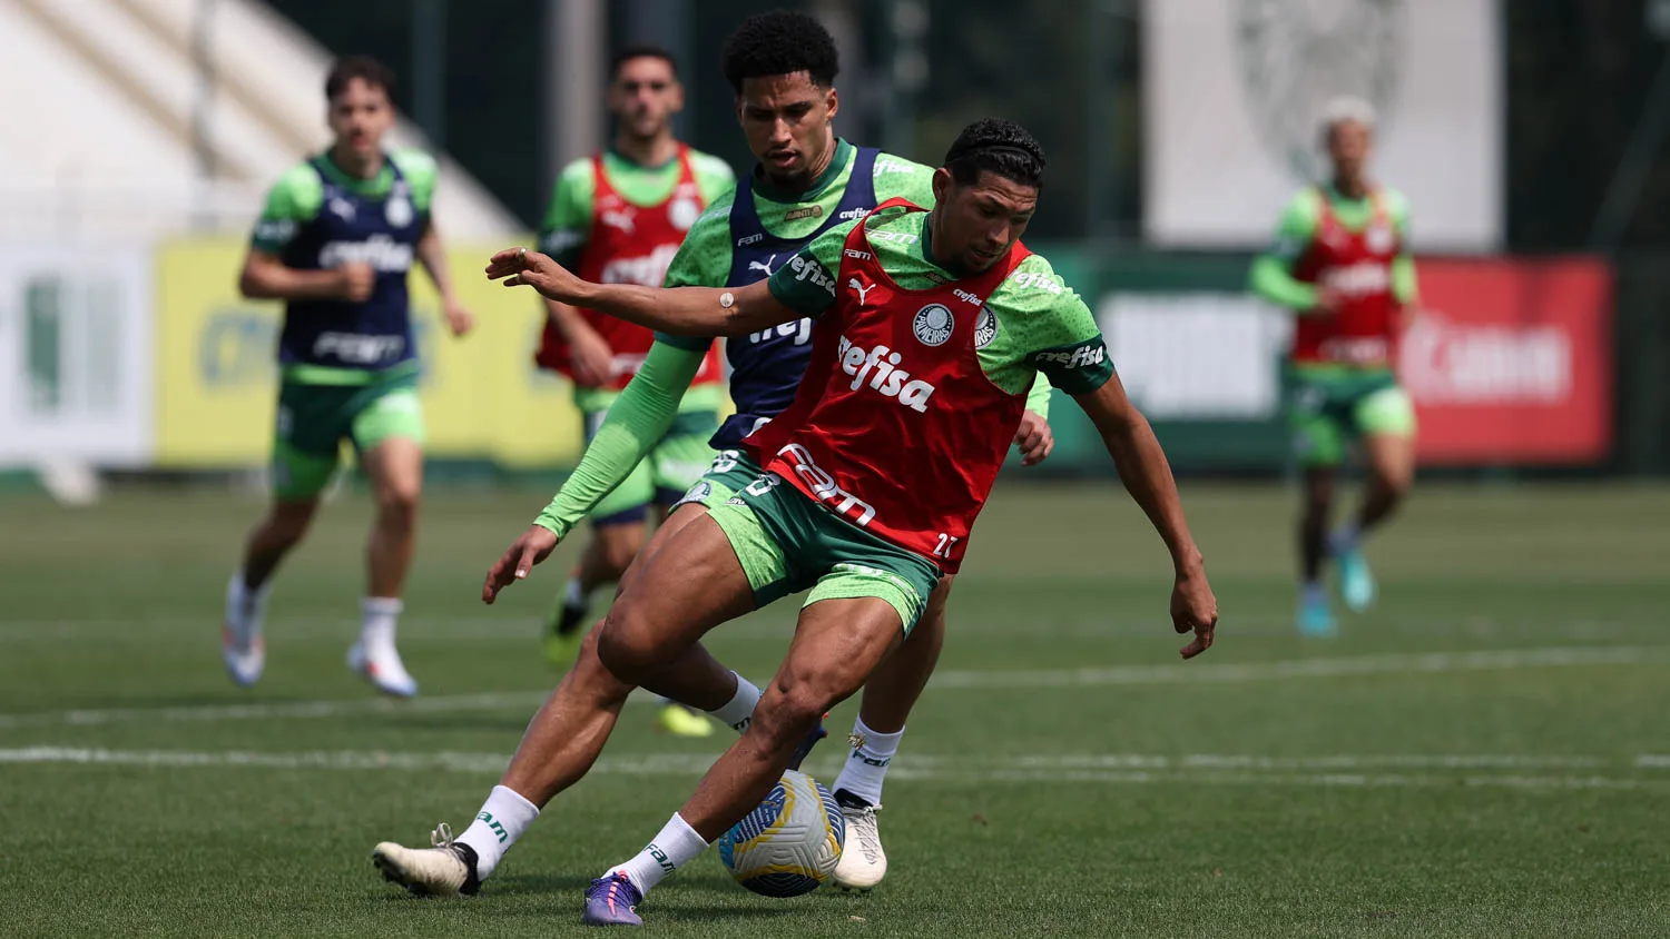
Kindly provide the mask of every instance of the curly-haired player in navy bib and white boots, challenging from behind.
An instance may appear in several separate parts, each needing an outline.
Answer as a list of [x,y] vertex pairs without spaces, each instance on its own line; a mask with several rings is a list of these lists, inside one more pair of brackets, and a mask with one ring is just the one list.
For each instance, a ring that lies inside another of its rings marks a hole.
[[[757,284],[780,272],[815,237],[843,220],[862,218],[888,198],[934,203],[932,168],[855,147],[835,135],[832,122],[840,110],[835,92],[840,57],[835,40],[815,18],[783,12],[753,17],[731,33],[723,58],[725,75],[736,92],[736,118],[758,165],[740,180],[735,195],[715,202],[691,228],[673,260],[668,287]],[[1049,287],[1034,295],[1040,302],[1054,299]],[[509,570],[523,557],[546,557],[579,519],[593,512],[600,499],[633,472],[673,424],[680,395],[703,369],[711,347],[713,340],[705,337],[656,337],[643,369],[610,409],[579,467],[494,572]],[[760,475],[760,467],[741,450],[741,440],[795,400],[812,359],[812,320],[795,319],[730,337],[725,354],[731,364],[730,394],[736,414],[713,437],[720,452],[711,470],[650,539],[641,562],[653,559],[680,529],[723,505]],[[1054,445],[1044,420],[1049,407],[1045,382],[1030,387],[1025,407],[1015,445],[1027,464],[1035,464]],[[635,575],[636,567],[626,575],[626,589]],[[840,887],[870,889],[887,874],[875,817],[882,806],[882,782],[898,752],[905,719],[939,660],[950,582],[945,577],[930,592],[910,640],[882,662],[863,689],[848,739],[848,759],[830,786],[847,819],[847,851],[835,869]],[[474,892],[539,811],[584,776],[631,692],[603,667],[596,634],[591,630],[578,664],[534,716],[499,786],[456,842],[439,829],[436,841],[441,847],[436,849],[389,842],[376,847],[376,862],[391,881],[414,892]],[[703,707],[738,732],[745,731],[760,689],[723,669],[700,644],[691,659],[691,667],[668,675],[678,682],[676,689],[656,682],[648,685]]]

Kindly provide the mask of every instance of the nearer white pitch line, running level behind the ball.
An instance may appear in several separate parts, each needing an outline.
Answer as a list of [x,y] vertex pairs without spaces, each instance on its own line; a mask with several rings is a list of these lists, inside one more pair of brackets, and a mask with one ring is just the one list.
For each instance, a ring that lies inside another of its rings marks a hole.
[[[900,766],[895,776],[920,781],[960,781],[960,782],[1069,782],[1069,784],[1106,784],[1106,786],[1149,786],[1149,784],[1211,784],[1211,786],[1314,786],[1314,787],[1453,787],[1456,784],[1473,787],[1505,789],[1662,789],[1670,781],[1655,777],[1617,777],[1617,776],[1521,776],[1521,774],[1368,774],[1368,772],[1258,772],[1226,769],[1189,769],[1196,762],[1232,762],[1241,757],[1216,757],[1199,754],[1172,761],[1171,757],[1124,756],[1132,764],[1156,761],[1171,769],[1070,769],[1064,766],[1047,766],[1059,757],[1017,757],[1010,762],[970,761],[959,766],[952,759],[935,761],[937,766]],[[1072,757],[1091,762],[1106,759],[1099,756]],[[1264,757],[1252,757],[1254,761]],[[1321,757],[1333,764],[1346,764],[1361,759],[1364,766],[1379,757]],[[1438,757],[1443,759],[1443,757]],[[1500,759],[1500,757],[1496,757]],[[1535,762],[1540,757],[1508,757],[1511,761]],[[312,751],[312,752],[256,752],[256,751],[110,751],[87,747],[20,747],[0,749],[0,764],[72,764],[72,766],[142,766],[172,769],[272,769],[272,771],[401,771],[429,772],[448,771],[464,774],[498,774],[503,772],[509,757],[496,754],[471,752],[376,752],[376,751]],[[593,766],[593,774],[605,776],[696,776],[711,764],[705,754],[646,754],[636,757],[605,757]]]

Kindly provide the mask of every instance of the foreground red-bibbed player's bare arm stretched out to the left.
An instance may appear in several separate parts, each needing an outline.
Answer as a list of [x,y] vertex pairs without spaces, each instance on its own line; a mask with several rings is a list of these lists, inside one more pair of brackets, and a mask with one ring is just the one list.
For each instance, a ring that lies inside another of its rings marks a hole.
[[735,335],[798,320],[772,295],[767,280],[748,287],[638,287],[591,284],[548,255],[504,249],[488,262],[488,279],[506,287],[528,285],[544,299],[598,310],[671,335]]

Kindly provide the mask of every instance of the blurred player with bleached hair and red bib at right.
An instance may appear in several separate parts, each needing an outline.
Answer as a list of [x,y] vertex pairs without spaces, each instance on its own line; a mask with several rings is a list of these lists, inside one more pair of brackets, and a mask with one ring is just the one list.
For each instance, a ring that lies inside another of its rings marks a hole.
[[[1338,630],[1323,562],[1339,567],[1353,610],[1374,602],[1363,539],[1384,522],[1414,479],[1414,405],[1398,385],[1398,339],[1413,317],[1409,203],[1369,180],[1374,108],[1328,103],[1321,123],[1333,163],[1326,185],[1301,190],[1283,212],[1276,247],[1252,262],[1252,290],[1298,317],[1288,364],[1289,425],[1304,465],[1299,524],[1299,630]],[[1329,534],[1334,480],[1359,440],[1368,464],[1361,509]]]

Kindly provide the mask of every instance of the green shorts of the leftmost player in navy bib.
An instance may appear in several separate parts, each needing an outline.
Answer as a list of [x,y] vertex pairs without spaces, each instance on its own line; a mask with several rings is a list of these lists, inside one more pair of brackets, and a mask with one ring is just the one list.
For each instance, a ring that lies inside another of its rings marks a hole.
[[424,440],[416,369],[359,385],[284,379],[272,440],[272,492],[287,502],[312,499],[336,474],[342,440],[364,454],[396,437]]

